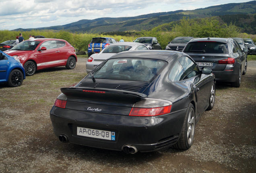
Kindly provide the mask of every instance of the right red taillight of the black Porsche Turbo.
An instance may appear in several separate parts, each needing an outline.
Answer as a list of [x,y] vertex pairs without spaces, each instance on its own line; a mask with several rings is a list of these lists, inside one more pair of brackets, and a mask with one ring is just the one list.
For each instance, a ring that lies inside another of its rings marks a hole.
[[133,107],[130,111],[130,116],[157,116],[171,112],[171,105],[155,108],[137,108]]

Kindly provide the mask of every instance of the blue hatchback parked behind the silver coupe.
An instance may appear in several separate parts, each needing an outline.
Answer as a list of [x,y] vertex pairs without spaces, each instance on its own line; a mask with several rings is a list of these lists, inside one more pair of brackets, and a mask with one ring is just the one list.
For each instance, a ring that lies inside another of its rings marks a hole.
[[88,57],[94,53],[99,53],[102,49],[107,47],[109,44],[115,43],[114,38],[109,37],[95,37],[88,44]]

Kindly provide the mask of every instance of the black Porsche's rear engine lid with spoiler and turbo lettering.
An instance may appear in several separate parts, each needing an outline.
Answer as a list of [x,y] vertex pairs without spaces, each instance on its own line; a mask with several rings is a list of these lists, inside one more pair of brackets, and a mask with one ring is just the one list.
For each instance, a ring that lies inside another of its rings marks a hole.
[[[98,82],[99,81],[99,82]],[[149,83],[120,81],[85,80],[76,88],[63,88],[62,93],[67,97],[66,108],[94,113],[129,115],[134,103],[147,95],[145,91]]]

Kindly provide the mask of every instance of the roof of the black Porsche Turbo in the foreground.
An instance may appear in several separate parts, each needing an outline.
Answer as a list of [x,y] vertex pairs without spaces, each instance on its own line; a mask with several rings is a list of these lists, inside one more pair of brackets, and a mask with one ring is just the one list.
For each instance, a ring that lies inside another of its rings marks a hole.
[[109,59],[113,58],[147,58],[147,59],[159,59],[168,62],[175,62],[181,56],[188,56],[183,52],[170,51],[170,50],[131,50],[120,52]]

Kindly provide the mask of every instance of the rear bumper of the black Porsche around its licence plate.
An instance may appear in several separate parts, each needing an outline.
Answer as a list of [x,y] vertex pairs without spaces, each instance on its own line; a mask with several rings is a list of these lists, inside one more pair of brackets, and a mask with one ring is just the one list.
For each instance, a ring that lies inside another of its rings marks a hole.
[[[55,135],[66,135],[70,143],[111,150],[133,145],[138,151],[170,147],[179,139],[186,109],[156,117],[107,115],[52,107],[50,118]],[[78,136],[77,127],[114,131],[114,141]]]

